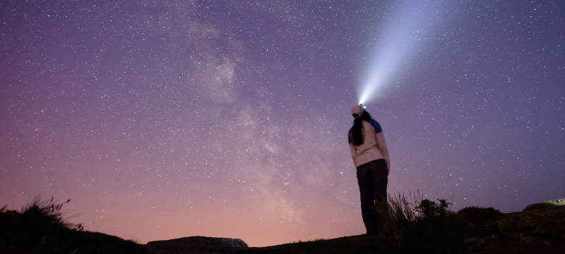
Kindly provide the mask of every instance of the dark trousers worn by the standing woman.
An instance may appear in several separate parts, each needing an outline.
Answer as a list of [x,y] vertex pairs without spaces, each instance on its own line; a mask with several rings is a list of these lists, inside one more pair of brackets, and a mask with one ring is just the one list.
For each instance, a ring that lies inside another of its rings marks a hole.
[[357,183],[361,193],[361,214],[367,234],[379,234],[380,214],[376,214],[375,200],[386,200],[388,173],[384,159],[377,159],[357,167]]

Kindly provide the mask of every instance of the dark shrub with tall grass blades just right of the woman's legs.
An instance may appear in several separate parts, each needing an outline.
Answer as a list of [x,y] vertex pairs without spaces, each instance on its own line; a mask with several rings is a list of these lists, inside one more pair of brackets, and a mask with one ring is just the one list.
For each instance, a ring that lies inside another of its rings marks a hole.
[[423,199],[420,193],[388,195],[376,205],[381,214],[383,251],[391,253],[460,253],[465,233],[448,200]]

